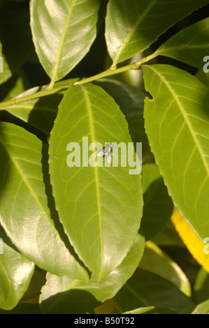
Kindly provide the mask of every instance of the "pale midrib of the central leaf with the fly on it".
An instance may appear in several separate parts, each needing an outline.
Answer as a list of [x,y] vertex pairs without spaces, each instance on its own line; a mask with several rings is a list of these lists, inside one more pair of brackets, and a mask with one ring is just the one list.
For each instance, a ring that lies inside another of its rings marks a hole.
[[[94,123],[93,123],[93,115],[92,115],[92,108],[89,100],[89,96],[87,94],[87,90],[85,87],[80,86],[84,92],[85,100],[87,104],[87,112],[89,117],[89,127],[90,127],[90,134],[92,136],[92,142],[96,142],[95,133],[94,133]],[[100,192],[99,192],[99,174],[98,174],[98,167],[94,167],[94,176],[95,176],[95,184],[96,184],[96,199],[97,199],[97,207],[98,207],[98,216],[99,216],[99,235],[100,235],[100,274],[102,271],[102,258],[103,258],[103,249],[102,249],[102,234],[101,234],[101,200],[100,200]]]

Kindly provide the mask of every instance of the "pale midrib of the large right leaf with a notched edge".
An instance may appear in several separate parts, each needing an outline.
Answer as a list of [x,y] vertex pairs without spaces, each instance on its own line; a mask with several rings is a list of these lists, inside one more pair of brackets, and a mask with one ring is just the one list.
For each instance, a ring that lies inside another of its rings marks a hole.
[[[150,66],[149,66],[150,67]],[[151,67],[150,67],[151,68]],[[151,68],[152,70],[154,70],[154,68]],[[164,82],[164,84],[166,84],[166,87],[169,89],[169,91],[171,92],[171,94],[173,95],[173,98],[175,99],[176,103],[178,104],[178,107],[180,107],[181,113],[187,123],[187,126],[189,128],[189,131],[194,139],[194,144],[196,145],[196,148],[199,150],[199,154],[201,155],[202,161],[204,166],[206,167],[206,171],[208,172],[208,177],[209,177],[209,168],[208,165],[206,163],[206,160],[202,154],[201,151],[201,146],[199,145],[199,141],[196,139],[196,135],[195,135],[195,131],[193,131],[193,128],[189,122],[189,119],[187,119],[187,114],[185,113],[185,110],[182,106],[182,104],[180,103],[180,100],[178,99],[178,96],[175,94],[175,90],[173,90],[173,88],[171,87],[171,85],[168,83],[168,81],[165,80],[164,76],[161,75],[159,72],[157,72],[157,70],[154,70],[154,72],[160,77],[160,79]]]

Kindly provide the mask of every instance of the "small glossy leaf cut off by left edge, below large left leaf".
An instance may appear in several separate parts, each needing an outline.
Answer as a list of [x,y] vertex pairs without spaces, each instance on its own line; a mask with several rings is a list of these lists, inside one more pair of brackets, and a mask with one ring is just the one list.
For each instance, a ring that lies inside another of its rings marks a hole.
[[34,263],[15,249],[0,226],[0,308],[14,308],[27,290]]

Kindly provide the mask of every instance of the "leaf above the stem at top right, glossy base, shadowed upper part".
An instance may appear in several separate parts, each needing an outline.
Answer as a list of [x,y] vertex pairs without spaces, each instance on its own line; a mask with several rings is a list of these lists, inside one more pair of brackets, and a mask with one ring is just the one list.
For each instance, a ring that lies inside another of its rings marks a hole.
[[110,0],[106,43],[113,63],[142,52],[168,27],[206,4],[208,0]]

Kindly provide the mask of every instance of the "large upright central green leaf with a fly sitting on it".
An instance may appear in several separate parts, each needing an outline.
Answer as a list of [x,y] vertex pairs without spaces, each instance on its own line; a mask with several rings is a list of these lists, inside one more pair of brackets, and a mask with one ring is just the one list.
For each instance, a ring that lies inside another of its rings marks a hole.
[[[82,144],[83,137],[88,140]],[[128,165],[122,167],[117,149],[113,163],[118,160],[118,167],[104,161],[93,167],[94,162],[83,156],[81,167],[69,167],[70,142],[78,143],[79,154],[88,152],[92,142],[100,142],[97,150],[106,142],[124,142],[124,147],[129,142],[134,151],[124,115],[101,87],[69,88],[59,105],[49,149],[59,219],[75,252],[101,280],[122,262],[136,238],[143,205],[140,174],[129,174]]]

